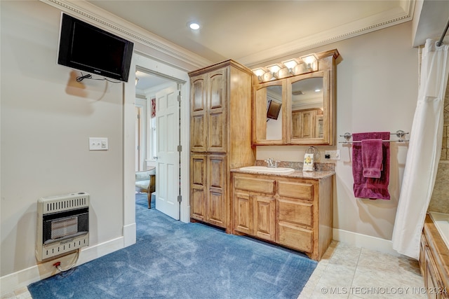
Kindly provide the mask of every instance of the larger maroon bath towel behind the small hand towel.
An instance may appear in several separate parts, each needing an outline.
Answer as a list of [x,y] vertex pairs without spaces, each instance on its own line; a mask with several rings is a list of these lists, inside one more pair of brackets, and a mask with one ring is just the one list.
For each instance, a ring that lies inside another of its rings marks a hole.
[[[366,139],[389,140],[389,132],[354,133],[353,141]],[[354,142],[352,144],[352,175],[354,176],[354,196],[358,198],[370,198],[389,200],[388,184],[390,177],[390,144],[388,141],[382,142],[382,171],[380,178],[370,178],[363,176],[362,144]]]

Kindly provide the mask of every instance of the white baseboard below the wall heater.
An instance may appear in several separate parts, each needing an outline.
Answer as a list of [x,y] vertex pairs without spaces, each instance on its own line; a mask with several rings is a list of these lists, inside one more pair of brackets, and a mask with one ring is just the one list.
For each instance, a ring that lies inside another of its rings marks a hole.
[[[95,258],[100,258],[100,256],[105,256],[108,253],[112,253],[123,248],[123,237],[118,237],[116,239],[109,240],[102,244],[95,246],[88,246],[81,249],[79,254],[78,263],[76,265],[81,265],[87,263]],[[63,256],[55,260],[49,260],[44,263],[39,263],[32,267],[29,267],[18,272],[14,272],[5,276],[0,277],[0,290],[1,296],[11,293],[18,288],[28,286],[33,282],[39,281],[41,279],[46,279],[59,271],[53,266],[57,261],[61,262],[61,267],[69,267],[75,259],[75,253],[71,253],[68,256]]]

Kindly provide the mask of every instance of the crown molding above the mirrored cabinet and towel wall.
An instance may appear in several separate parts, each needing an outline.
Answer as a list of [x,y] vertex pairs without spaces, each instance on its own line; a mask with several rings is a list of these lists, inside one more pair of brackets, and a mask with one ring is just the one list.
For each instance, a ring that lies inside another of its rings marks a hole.
[[350,39],[379,29],[384,29],[394,25],[408,22],[413,19],[415,0],[402,0],[401,6],[393,8],[368,18],[357,20],[346,25],[335,27],[319,34],[297,39],[275,48],[260,51],[258,53],[241,57],[238,61],[250,68],[263,64],[270,60],[301,53],[306,50],[326,46],[330,43]]

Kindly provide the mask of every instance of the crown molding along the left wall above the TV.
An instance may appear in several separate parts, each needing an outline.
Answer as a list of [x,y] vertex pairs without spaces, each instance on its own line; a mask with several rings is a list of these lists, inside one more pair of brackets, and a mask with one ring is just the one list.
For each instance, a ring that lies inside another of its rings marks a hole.
[[[69,15],[152,49],[151,56],[177,69],[192,71],[212,62],[84,0],[39,0]],[[144,52],[136,49],[134,51]],[[148,53],[147,53],[148,54]],[[154,56],[153,56],[154,55]]]

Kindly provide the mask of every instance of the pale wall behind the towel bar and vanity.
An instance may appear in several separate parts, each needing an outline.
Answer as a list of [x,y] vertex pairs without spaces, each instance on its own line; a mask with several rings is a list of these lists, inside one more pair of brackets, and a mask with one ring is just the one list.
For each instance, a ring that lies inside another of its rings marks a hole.
[[[418,50],[411,46],[411,35],[408,22],[309,51],[336,48],[342,56],[337,65],[337,137],[344,132],[410,132],[418,89]],[[306,148],[259,146],[257,160],[303,161]],[[341,151],[341,160],[335,162],[334,227],[390,240],[408,146],[391,143],[391,200],[354,198],[351,146],[318,148],[322,162],[326,149]]]

